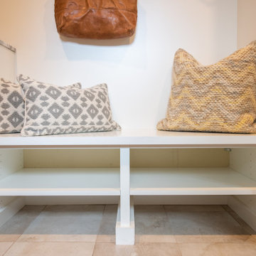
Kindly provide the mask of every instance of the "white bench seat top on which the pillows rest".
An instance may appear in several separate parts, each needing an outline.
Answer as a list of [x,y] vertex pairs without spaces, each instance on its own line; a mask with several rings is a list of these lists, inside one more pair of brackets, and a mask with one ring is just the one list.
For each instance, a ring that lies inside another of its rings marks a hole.
[[256,134],[218,134],[203,132],[164,132],[156,129],[123,129],[36,137],[1,134],[0,147],[74,148],[74,147],[248,147],[256,146]]

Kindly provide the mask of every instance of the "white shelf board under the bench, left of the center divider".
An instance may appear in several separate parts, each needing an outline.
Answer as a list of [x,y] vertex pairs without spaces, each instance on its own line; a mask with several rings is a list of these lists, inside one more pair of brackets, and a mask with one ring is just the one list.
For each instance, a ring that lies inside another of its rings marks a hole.
[[0,181],[0,196],[119,195],[119,169],[21,169]]

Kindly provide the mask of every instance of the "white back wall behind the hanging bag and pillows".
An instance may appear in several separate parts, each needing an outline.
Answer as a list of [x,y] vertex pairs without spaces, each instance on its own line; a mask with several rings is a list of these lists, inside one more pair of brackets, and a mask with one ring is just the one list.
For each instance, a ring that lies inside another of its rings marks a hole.
[[18,73],[84,87],[107,82],[114,119],[152,128],[163,118],[174,53],[185,48],[214,63],[237,46],[237,0],[139,0],[134,38],[60,38],[54,0],[1,0],[0,39],[17,48]]

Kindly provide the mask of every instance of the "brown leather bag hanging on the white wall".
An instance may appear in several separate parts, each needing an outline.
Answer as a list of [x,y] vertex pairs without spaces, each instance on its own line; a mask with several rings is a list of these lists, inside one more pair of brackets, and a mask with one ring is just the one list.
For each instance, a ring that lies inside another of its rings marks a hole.
[[110,39],[134,34],[137,0],[55,0],[60,35],[71,38]]

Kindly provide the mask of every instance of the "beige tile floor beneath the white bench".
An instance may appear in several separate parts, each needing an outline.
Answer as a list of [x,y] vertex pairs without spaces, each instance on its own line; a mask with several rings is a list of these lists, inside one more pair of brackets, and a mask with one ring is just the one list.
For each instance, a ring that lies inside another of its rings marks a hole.
[[0,256],[255,256],[228,206],[135,206],[135,245],[115,245],[117,206],[25,206],[0,228]]

